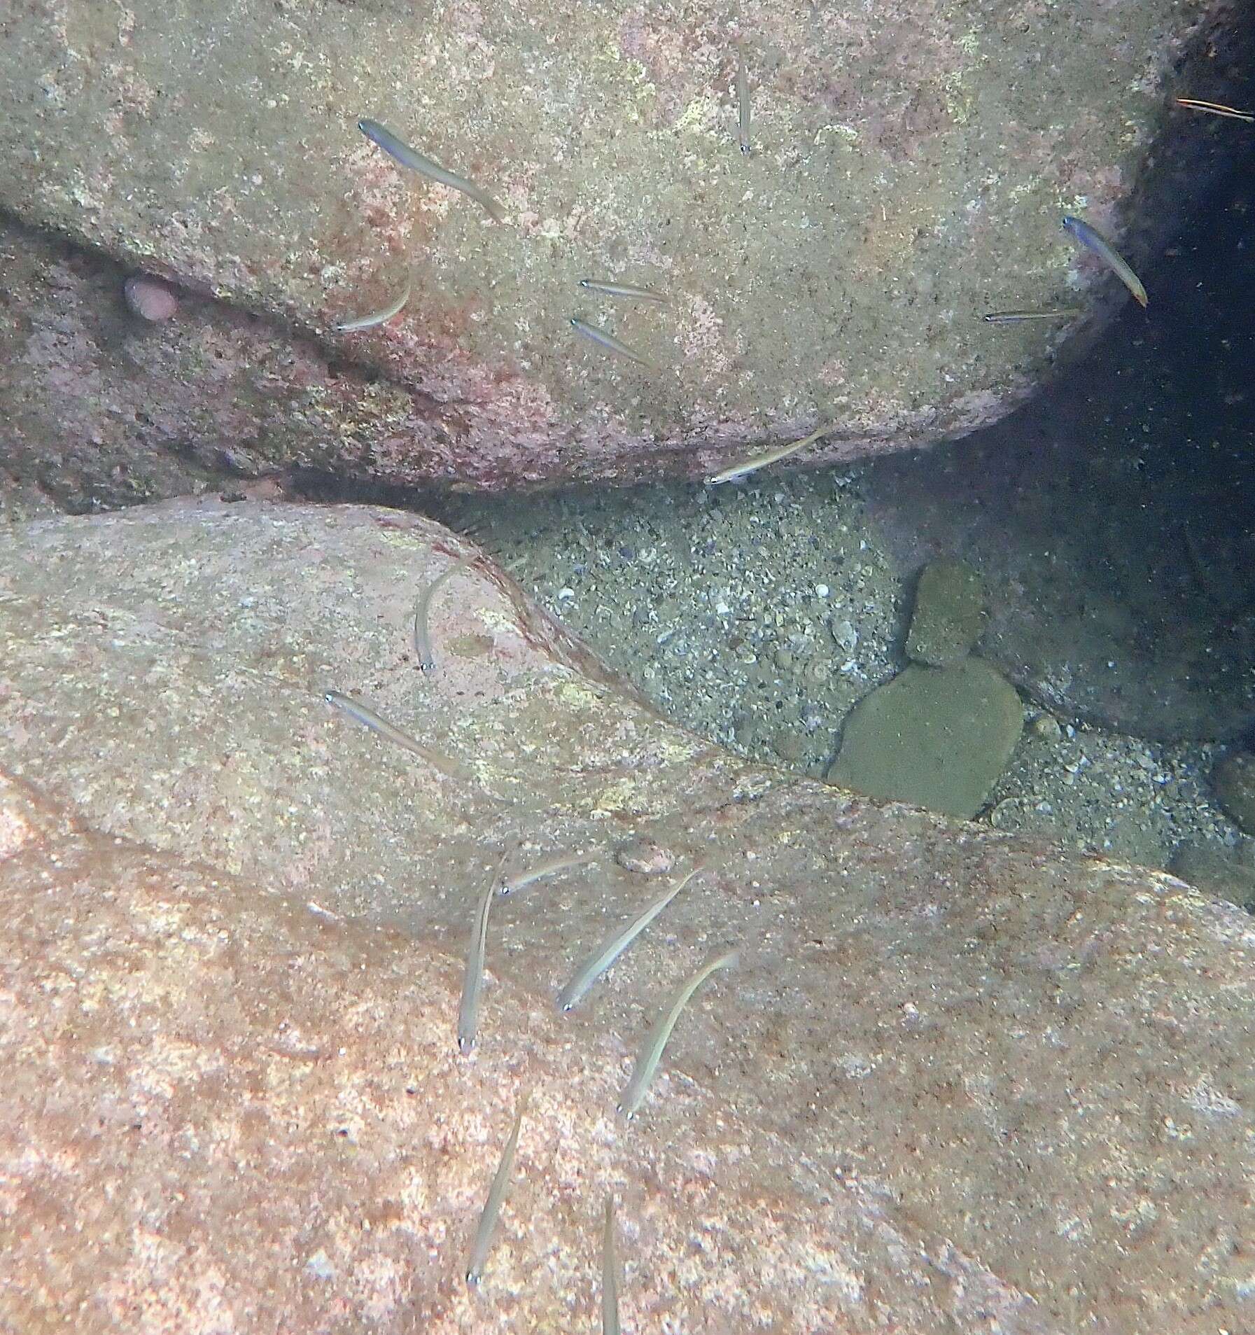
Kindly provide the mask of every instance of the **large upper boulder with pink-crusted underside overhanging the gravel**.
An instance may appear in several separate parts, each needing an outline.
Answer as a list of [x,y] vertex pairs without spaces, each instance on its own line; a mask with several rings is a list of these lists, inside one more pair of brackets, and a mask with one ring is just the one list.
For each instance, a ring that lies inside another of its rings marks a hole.
[[[0,210],[178,284],[179,320],[123,335],[144,419],[107,429],[158,458],[234,439],[246,469],[630,481],[821,422],[809,459],[848,458],[969,430],[1040,379],[1059,335],[993,332],[988,304],[1097,283],[1123,299],[1060,215],[1140,260],[1117,206],[1216,8],[770,0],[733,28],[709,0],[8,5]],[[360,116],[506,220],[398,166]],[[395,319],[332,332],[410,280]],[[21,374],[61,382],[48,438],[107,374],[112,314],[56,295],[19,307]],[[573,315],[658,368],[577,338]]]

